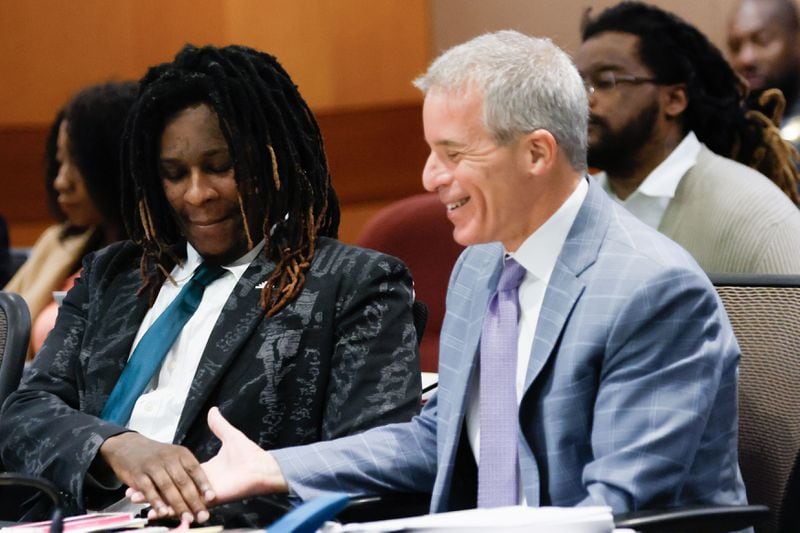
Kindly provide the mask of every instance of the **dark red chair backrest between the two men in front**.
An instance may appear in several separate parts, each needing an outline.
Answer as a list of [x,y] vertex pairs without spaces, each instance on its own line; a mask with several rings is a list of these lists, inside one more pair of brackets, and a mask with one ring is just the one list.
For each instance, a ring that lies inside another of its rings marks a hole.
[[420,343],[422,370],[436,372],[447,282],[464,249],[453,240],[445,206],[435,193],[393,202],[367,222],[356,244],[399,257],[411,270],[416,297],[428,306],[427,331]]

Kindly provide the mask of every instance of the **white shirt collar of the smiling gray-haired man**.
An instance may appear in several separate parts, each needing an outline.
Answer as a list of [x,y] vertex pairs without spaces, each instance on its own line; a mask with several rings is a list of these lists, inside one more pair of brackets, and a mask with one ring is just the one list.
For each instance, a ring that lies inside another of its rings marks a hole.
[[508,252],[507,257],[513,257],[525,267],[526,275],[533,275],[545,283],[549,282],[550,274],[567,240],[567,234],[578,216],[588,191],[589,182],[581,179],[561,207],[525,239],[516,252]]

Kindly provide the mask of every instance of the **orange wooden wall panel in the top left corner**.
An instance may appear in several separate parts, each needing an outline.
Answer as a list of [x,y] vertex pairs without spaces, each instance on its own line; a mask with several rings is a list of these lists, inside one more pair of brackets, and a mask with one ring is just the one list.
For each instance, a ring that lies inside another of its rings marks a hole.
[[131,3],[0,0],[0,124],[41,124],[89,83],[134,77]]

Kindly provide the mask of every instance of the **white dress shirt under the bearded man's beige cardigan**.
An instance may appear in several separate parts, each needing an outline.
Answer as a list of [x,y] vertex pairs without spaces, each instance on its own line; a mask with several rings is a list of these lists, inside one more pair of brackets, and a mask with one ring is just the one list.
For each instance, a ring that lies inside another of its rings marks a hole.
[[678,184],[684,174],[697,163],[700,147],[700,141],[694,132],[687,133],[669,156],[624,200],[614,193],[605,172],[595,174],[594,178],[611,198],[625,206],[636,218],[651,228],[658,229],[667,206],[675,197]]

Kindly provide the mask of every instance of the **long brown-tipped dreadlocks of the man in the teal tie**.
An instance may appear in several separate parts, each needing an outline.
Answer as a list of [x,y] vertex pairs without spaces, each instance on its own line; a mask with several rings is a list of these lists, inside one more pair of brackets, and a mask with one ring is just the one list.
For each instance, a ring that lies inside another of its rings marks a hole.
[[275,263],[261,292],[272,316],[302,289],[318,237],[336,238],[339,203],[311,110],[275,57],[245,46],[186,45],[140,81],[125,129],[123,215],[143,250],[141,290],[154,301],[179,261],[185,239],[161,184],[160,139],[198,104],[216,113],[228,144],[248,243],[263,234]]

